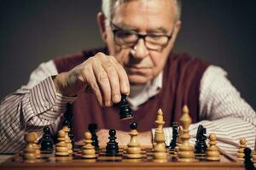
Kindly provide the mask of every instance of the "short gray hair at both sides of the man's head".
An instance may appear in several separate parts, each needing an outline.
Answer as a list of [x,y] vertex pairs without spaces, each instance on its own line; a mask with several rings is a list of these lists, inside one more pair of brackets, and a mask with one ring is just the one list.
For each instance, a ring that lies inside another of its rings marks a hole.
[[[113,18],[113,8],[119,6],[121,3],[125,3],[129,0],[102,0],[102,13],[108,20]],[[182,0],[175,0],[176,2],[176,14],[177,20],[180,20],[182,10]]]

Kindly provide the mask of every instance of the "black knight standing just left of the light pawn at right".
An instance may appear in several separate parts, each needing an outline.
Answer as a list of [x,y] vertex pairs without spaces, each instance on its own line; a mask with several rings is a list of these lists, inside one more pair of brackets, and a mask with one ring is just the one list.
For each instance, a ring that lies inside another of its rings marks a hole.
[[207,151],[207,136],[204,134],[207,133],[207,128],[199,125],[196,133],[196,141],[195,141],[195,154],[205,154]]

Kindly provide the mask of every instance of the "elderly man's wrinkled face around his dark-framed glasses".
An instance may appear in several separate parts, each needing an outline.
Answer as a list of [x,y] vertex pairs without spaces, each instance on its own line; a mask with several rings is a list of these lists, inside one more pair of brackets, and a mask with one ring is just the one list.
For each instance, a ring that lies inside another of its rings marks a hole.
[[129,1],[114,8],[111,22],[122,30],[136,31],[143,35],[172,35],[167,45],[156,51],[148,49],[143,38],[131,48],[120,47],[114,41],[111,26],[102,32],[106,36],[104,41],[110,55],[124,66],[130,83],[142,84],[151,81],[163,70],[179,30],[180,22],[176,22],[174,1]]

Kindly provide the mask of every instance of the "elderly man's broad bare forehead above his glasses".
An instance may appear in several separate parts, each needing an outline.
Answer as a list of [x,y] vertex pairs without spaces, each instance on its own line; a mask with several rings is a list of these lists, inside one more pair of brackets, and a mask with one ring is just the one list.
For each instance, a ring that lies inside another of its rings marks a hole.
[[113,8],[113,22],[129,30],[161,31],[173,25],[175,8],[172,0],[133,0]]

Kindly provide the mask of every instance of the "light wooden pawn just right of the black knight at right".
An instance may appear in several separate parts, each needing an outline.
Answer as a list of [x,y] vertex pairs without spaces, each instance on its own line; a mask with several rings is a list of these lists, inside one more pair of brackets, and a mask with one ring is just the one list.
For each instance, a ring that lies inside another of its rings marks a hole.
[[211,133],[209,136],[209,147],[207,148],[207,161],[219,161],[219,151],[216,145],[216,134]]

